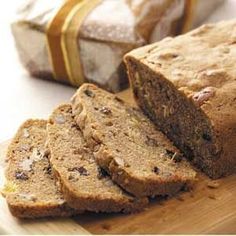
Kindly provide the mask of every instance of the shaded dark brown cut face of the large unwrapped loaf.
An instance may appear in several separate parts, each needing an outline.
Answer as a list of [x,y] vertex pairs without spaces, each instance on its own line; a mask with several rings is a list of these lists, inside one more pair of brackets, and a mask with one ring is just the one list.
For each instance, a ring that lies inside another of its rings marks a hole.
[[192,163],[219,177],[214,162],[220,147],[207,116],[163,75],[134,58],[127,58],[136,101]]

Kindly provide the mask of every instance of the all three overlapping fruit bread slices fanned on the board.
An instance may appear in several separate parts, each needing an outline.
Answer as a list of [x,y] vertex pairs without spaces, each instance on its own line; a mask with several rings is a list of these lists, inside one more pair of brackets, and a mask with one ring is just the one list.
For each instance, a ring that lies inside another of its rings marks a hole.
[[196,176],[138,108],[92,84],[48,120],[22,124],[7,161],[3,194],[20,218],[141,211]]

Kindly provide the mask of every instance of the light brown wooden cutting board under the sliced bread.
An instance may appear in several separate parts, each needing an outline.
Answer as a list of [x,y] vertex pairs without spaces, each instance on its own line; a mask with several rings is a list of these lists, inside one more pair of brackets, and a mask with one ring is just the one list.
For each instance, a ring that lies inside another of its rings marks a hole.
[[[133,102],[130,92],[121,97]],[[0,185],[3,184],[5,150],[0,145]],[[138,167],[137,167],[138,168]],[[236,175],[209,188],[199,174],[192,192],[169,200],[153,200],[138,214],[87,213],[74,218],[17,220],[0,197],[0,234],[236,234]]]

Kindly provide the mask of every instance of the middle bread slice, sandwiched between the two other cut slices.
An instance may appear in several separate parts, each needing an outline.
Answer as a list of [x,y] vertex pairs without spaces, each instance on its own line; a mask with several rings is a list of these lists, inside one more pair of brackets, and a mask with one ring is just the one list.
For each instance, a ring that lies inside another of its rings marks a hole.
[[47,126],[50,162],[68,204],[94,212],[134,212],[147,198],[137,199],[114,184],[95,162],[76,125],[70,104],[59,106]]

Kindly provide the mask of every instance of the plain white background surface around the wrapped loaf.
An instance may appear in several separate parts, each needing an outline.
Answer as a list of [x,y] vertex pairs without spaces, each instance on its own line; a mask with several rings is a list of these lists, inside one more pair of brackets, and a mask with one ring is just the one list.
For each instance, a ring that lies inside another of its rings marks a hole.
[[[11,138],[25,119],[47,118],[57,104],[69,101],[75,92],[65,85],[30,78],[22,68],[9,27],[22,2],[6,0],[0,7],[0,142]],[[233,17],[236,0],[228,0],[207,22]],[[33,42],[29,39],[28,43]]]

